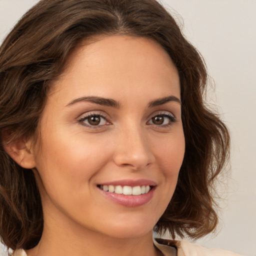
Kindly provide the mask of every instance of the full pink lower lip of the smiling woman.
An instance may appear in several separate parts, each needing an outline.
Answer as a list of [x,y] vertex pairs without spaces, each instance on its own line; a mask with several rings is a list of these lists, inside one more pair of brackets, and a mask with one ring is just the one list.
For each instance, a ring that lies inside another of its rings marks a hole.
[[118,203],[126,207],[138,207],[148,203],[152,199],[155,186],[153,186],[147,193],[140,195],[117,194],[104,191],[100,188],[98,189],[104,196],[106,196],[108,199],[115,203]]

